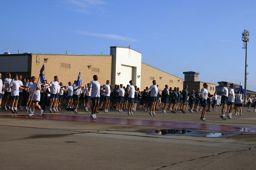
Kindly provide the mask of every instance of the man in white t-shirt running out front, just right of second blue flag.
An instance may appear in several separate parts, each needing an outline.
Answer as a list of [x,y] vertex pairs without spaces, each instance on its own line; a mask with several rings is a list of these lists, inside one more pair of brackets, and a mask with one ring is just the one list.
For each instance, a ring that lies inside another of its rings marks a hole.
[[94,75],[93,76],[93,81],[90,82],[89,88],[87,92],[91,92],[91,103],[92,103],[92,108],[91,108],[91,119],[97,119],[96,113],[97,113],[97,108],[100,102],[100,83],[97,82],[98,76]]

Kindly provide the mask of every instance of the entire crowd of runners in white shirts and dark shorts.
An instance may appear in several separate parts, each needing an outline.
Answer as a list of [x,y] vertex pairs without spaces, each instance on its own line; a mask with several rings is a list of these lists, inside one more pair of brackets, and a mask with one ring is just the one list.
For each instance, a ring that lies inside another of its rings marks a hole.
[[[221,89],[221,96],[217,93],[210,94],[207,91],[207,83],[201,90],[191,90],[188,92],[188,85],[180,91],[177,87],[169,88],[165,85],[163,90],[159,90],[156,80],[152,81],[150,87],[146,87],[143,91],[133,86],[133,80],[126,85],[110,85],[107,80],[106,84],[100,85],[97,81],[98,76],[94,75],[93,80],[84,87],[77,85],[77,81],[68,82],[65,86],[59,82],[58,76],[54,76],[54,80],[49,82],[44,80],[41,84],[35,76],[29,79],[23,78],[21,75],[7,74],[7,78],[2,81],[0,73],[0,106],[3,110],[11,110],[12,113],[18,113],[19,110],[26,110],[29,116],[35,114],[35,107],[39,109],[39,115],[42,116],[45,109],[49,109],[50,113],[56,113],[58,110],[66,110],[78,113],[78,108],[83,107],[86,112],[91,110],[91,119],[97,119],[96,114],[99,110],[108,113],[110,109],[115,109],[120,113],[127,110],[129,116],[142,105],[145,112],[149,111],[150,116],[156,116],[155,111],[162,109],[162,113],[166,114],[167,110],[172,113],[181,111],[186,113],[201,112],[200,120],[205,120],[206,112],[213,110],[216,112],[217,99],[221,97],[222,110],[220,118],[226,120],[232,119],[232,112],[242,116],[243,95],[240,91],[235,93],[234,84],[224,83]],[[13,79],[12,79],[13,78]],[[254,112],[256,112],[256,96],[252,99],[248,98],[248,112],[250,106],[254,102]]]

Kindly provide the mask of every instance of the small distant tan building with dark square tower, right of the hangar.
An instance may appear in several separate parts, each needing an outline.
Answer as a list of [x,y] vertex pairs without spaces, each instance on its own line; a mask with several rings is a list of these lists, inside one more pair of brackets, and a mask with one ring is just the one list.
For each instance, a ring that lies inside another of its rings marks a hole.
[[[183,72],[183,74],[185,74],[185,81],[184,81],[184,85],[188,85],[188,92],[190,93],[191,90],[195,90],[197,91],[198,89],[201,90],[204,86],[203,84],[205,82],[200,82],[198,81],[198,72]],[[206,82],[208,85],[207,91],[211,94],[214,94],[214,92],[216,91],[216,84],[214,83],[208,83]]]

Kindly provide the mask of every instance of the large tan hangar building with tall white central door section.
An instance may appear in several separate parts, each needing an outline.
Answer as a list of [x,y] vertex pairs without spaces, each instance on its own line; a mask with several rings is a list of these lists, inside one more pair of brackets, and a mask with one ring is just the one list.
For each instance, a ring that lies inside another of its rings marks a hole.
[[[110,47],[110,55],[78,54],[0,54],[0,72],[3,79],[7,73],[21,74],[25,78],[39,77],[45,59],[45,79],[52,81],[58,76],[60,82],[68,85],[78,78],[81,70],[83,86],[98,75],[100,85],[110,80],[111,85],[129,84],[130,80],[139,88],[152,85],[155,79],[160,89],[183,86],[183,79],[155,67],[141,63],[142,54],[130,47]],[[11,64],[10,64],[11,63]]]

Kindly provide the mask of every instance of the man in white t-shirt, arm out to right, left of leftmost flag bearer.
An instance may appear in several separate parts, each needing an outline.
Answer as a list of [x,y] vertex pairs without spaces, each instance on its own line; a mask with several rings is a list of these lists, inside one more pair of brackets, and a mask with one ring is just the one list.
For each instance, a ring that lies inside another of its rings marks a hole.
[[18,113],[17,112],[17,105],[19,101],[19,89],[25,89],[20,86],[18,75],[13,76],[13,80],[10,82],[9,88],[11,88],[11,111],[12,113]]

